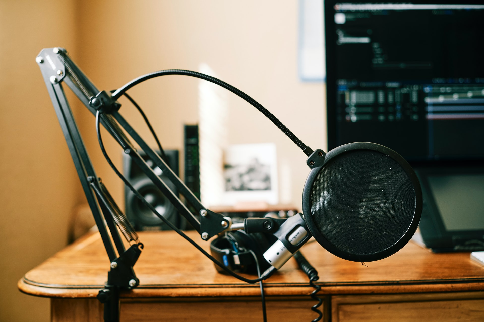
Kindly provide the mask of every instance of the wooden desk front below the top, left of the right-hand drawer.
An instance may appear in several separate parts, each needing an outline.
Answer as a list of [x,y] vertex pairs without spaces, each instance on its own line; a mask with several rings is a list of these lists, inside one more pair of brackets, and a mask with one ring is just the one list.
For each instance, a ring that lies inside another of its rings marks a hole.
[[[187,301],[157,301],[137,299],[121,301],[120,322],[247,322],[261,321],[260,298],[229,298],[212,301],[200,298]],[[311,321],[318,314],[309,308],[314,301],[284,298],[266,302],[268,321]],[[326,305],[326,303],[325,303]],[[102,322],[103,306],[96,299],[54,298],[52,322]],[[322,322],[326,322],[323,320]]]

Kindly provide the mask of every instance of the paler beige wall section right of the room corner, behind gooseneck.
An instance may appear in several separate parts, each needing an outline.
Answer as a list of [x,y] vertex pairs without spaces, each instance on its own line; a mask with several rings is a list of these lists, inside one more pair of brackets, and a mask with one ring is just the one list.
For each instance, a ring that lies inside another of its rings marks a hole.
[[[223,81],[259,101],[311,148],[326,148],[324,87],[302,83],[297,70],[298,1],[84,1],[78,64],[100,88],[113,89],[155,70],[198,70],[208,64]],[[95,12],[89,8],[97,7]],[[106,18],[110,12],[113,19]],[[182,124],[197,123],[199,80],[166,76],[130,91],[146,110],[162,145],[182,148]],[[228,142],[274,142],[279,166],[290,168],[290,203],[300,207],[308,173],[306,156],[254,107],[229,95]],[[149,142],[142,119],[129,104],[121,108]],[[100,154],[93,117],[83,126],[96,166],[108,188],[122,187]],[[154,143],[153,143],[154,144]],[[111,141],[110,154],[121,165]],[[281,167],[280,167],[281,168]],[[280,175],[284,175],[280,173]]]

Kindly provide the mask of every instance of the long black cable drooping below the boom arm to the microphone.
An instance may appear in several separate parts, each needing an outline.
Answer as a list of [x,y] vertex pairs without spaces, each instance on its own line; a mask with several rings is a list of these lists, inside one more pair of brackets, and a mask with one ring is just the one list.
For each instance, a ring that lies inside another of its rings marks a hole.
[[181,237],[185,238],[186,240],[188,240],[189,243],[191,243],[193,246],[195,246],[197,248],[197,250],[199,250],[200,252],[202,252],[205,256],[207,256],[213,263],[215,263],[216,265],[220,266],[223,270],[225,270],[228,274],[232,275],[233,277],[235,277],[236,279],[239,279],[239,280],[242,280],[243,282],[247,282],[247,283],[257,283],[261,280],[265,280],[265,279],[268,279],[269,277],[272,276],[272,274],[274,273],[275,269],[272,269],[272,270],[267,270],[267,274],[266,272],[264,272],[264,275],[258,279],[246,279],[234,272],[232,272],[230,269],[228,269],[224,264],[220,263],[219,261],[217,261],[212,255],[210,255],[208,252],[206,252],[203,248],[201,248],[195,241],[193,241],[191,238],[189,238],[188,236],[186,236],[180,229],[178,229],[178,227],[176,227],[174,224],[172,224],[169,220],[167,220],[165,217],[163,217],[162,215],[160,215],[158,213],[158,211],[151,205],[151,203],[149,203],[148,201],[146,201],[146,199],[141,196],[139,194],[139,192],[131,185],[131,183],[121,174],[121,172],[118,170],[118,168],[116,168],[116,166],[114,165],[114,163],[111,161],[111,159],[109,158],[109,156],[107,155],[106,153],[106,150],[104,148],[104,143],[103,143],[103,139],[101,137],[101,131],[100,131],[100,113],[99,111],[96,111],[96,134],[97,134],[97,140],[99,142],[99,146],[101,147],[101,151],[103,152],[103,155],[107,161],[107,163],[109,164],[109,166],[111,166],[111,168],[113,169],[113,171],[118,175],[118,177],[121,178],[121,180],[124,182],[124,184],[136,195],[136,197],[138,197],[144,204],[145,206],[147,206],[158,218],[160,218],[165,224],[167,224],[171,229],[173,229],[174,231],[176,231]]

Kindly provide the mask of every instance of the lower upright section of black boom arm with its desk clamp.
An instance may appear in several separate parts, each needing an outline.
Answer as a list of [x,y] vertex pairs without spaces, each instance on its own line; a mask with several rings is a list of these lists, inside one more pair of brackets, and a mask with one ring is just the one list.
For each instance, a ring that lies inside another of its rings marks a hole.
[[[109,262],[111,263],[106,287],[98,295],[98,298],[105,303],[105,321],[119,321],[119,291],[121,289],[136,287],[139,284],[133,266],[141,253],[143,244],[137,240],[137,235],[134,230],[131,231],[128,229],[126,232],[121,229],[122,226],[120,224],[123,223],[120,215],[124,214],[121,213],[121,210],[115,204],[104,184],[96,176],[91,159],[87,153],[62,88],[62,82],[66,81],[66,84],[71,85],[69,87],[73,88],[74,93],[83,102],[87,100],[85,93],[89,95],[92,90],[96,89],[93,85],[83,87],[82,90],[76,87],[74,82],[80,82],[79,78],[73,80],[66,77],[66,74],[74,71],[72,69],[70,72],[66,71],[66,66],[61,59],[58,59],[59,57],[55,51],[59,52],[59,49],[43,49],[37,56],[36,61],[42,72],[47,91],[61,125],[62,133],[64,134],[69,152],[74,161],[82,189],[91,208],[94,221],[99,229]],[[69,67],[72,68],[72,66]],[[83,81],[86,82],[86,79]],[[117,222],[115,223],[115,221]],[[124,247],[116,227],[117,224],[120,226],[123,235],[129,237],[129,239],[127,237],[128,241],[136,242],[128,249]]]

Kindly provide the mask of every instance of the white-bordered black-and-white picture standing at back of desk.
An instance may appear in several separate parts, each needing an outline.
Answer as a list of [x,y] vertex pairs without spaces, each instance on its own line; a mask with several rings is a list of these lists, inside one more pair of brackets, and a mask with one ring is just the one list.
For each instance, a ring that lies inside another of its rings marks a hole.
[[223,204],[264,201],[277,204],[275,144],[230,145],[224,154]]

